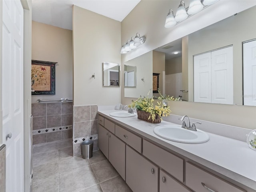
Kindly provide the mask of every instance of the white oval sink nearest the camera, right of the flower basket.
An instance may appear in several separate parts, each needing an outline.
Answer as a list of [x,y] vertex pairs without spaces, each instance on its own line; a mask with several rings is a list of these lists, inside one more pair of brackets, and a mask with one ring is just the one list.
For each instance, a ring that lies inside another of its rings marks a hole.
[[160,125],[154,128],[154,133],[161,138],[180,143],[205,143],[210,139],[206,132],[187,130],[181,125]]

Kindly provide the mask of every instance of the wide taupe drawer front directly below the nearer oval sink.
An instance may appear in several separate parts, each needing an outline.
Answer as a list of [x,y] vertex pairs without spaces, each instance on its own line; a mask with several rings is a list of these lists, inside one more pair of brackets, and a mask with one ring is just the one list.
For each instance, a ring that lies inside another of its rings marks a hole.
[[143,155],[183,182],[183,159],[143,140]]

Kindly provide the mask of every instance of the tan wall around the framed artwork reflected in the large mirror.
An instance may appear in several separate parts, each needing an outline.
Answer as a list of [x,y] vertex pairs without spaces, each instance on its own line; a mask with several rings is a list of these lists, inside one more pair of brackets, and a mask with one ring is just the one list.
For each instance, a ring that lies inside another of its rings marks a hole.
[[[165,54],[153,51],[153,73],[159,73],[159,90],[163,93],[163,71],[165,71]],[[159,97],[159,93],[153,93],[153,96]]]

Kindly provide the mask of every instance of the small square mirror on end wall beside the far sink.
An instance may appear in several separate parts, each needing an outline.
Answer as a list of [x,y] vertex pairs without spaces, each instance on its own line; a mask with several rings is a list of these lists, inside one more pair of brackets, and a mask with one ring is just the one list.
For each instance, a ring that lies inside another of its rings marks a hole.
[[119,86],[119,64],[103,62],[103,86]]

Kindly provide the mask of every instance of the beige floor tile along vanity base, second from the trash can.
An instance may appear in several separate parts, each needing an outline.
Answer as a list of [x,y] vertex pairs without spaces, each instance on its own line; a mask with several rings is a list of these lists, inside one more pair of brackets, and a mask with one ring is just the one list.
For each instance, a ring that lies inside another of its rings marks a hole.
[[118,176],[118,172],[116,172],[116,170],[108,160],[93,164],[92,168],[99,182],[103,182],[110,178]]

